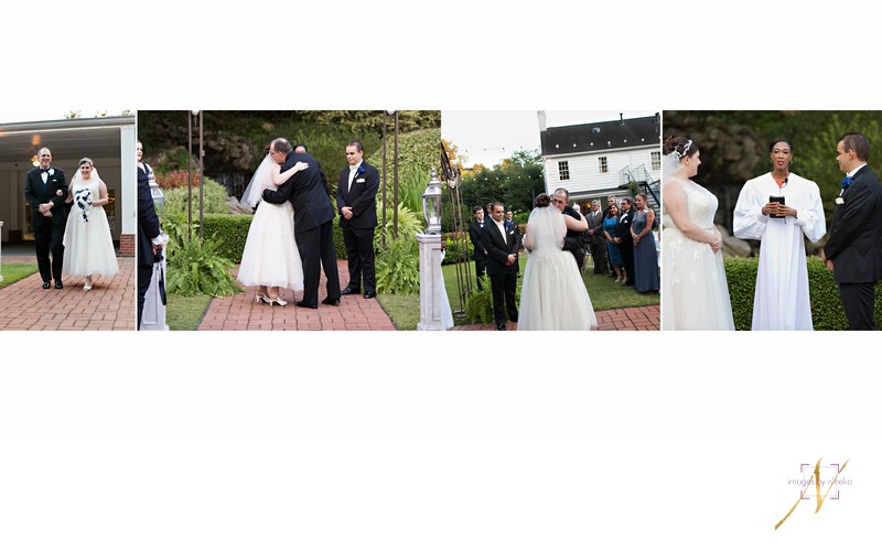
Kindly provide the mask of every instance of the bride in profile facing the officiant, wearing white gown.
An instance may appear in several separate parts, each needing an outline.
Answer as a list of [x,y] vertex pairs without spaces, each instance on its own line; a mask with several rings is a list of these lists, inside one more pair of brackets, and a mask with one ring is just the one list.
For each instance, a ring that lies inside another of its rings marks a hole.
[[713,224],[717,197],[693,182],[701,164],[692,140],[665,142],[662,169],[662,330],[734,330],[729,284]]

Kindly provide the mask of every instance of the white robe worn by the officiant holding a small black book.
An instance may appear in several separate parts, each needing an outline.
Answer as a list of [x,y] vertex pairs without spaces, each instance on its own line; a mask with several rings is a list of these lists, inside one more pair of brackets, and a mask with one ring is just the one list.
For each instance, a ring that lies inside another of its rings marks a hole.
[[[788,164],[747,181],[735,204],[735,236],[761,241],[752,330],[813,330],[803,237],[818,241],[827,222],[818,185],[789,173]],[[772,196],[783,196],[784,205]]]

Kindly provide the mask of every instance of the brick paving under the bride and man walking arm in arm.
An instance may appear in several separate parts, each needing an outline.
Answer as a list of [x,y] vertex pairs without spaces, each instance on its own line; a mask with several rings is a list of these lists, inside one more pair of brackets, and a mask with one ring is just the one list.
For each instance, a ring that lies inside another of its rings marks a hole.
[[[119,272],[98,277],[92,291],[84,277],[62,277],[64,288],[42,288],[40,273],[0,290],[0,330],[135,330],[135,258],[117,258]],[[33,256],[3,256],[3,265],[35,263]]]

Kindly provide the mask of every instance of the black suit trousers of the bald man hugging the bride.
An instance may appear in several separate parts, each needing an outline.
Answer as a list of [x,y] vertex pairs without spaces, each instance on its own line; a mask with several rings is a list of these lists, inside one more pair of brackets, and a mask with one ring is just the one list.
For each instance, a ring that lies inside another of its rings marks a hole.
[[340,299],[337,255],[334,250],[334,232],[331,224],[332,222],[327,222],[308,230],[294,232],[300,260],[303,263],[303,302],[310,306],[319,304],[319,280],[322,268],[327,279],[327,297]]

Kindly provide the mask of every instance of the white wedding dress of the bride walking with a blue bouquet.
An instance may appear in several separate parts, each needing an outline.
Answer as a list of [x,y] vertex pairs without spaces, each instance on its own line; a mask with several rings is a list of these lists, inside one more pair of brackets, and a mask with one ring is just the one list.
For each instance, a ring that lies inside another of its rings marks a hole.
[[90,206],[99,194],[98,170],[92,171],[89,179],[83,179],[79,171],[71,182],[74,203],[64,229],[63,272],[72,277],[99,274],[112,277],[119,272],[110,224],[103,206]]

